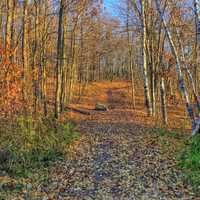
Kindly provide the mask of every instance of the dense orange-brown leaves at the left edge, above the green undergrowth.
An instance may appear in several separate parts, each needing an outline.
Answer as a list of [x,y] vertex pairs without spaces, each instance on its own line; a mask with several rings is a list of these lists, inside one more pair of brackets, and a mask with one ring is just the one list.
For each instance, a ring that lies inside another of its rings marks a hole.
[[9,60],[10,53],[0,48],[0,112],[1,116],[13,116],[22,106],[21,69]]

